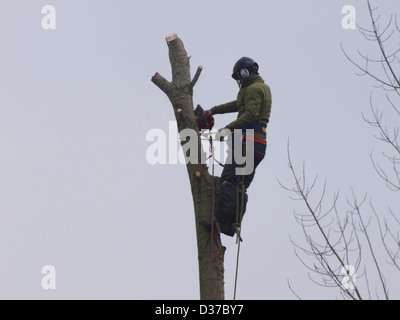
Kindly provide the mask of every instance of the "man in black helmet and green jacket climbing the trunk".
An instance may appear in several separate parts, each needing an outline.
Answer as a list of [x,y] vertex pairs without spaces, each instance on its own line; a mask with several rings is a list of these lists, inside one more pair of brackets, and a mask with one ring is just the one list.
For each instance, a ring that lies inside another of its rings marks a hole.
[[[227,158],[230,161],[225,163],[221,175],[221,195],[215,211],[216,221],[214,221],[217,229],[228,236],[233,236],[236,227],[241,223],[238,221],[240,218],[238,219],[237,213],[241,211],[243,217],[247,203],[246,190],[254,179],[256,167],[265,157],[267,147],[266,127],[271,114],[271,90],[259,75],[258,68],[258,64],[251,58],[239,59],[233,67],[232,74],[232,78],[237,81],[240,88],[237,99],[207,111],[208,117],[238,112],[237,119],[219,130],[216,137],[223,141],[225,136],[229,135],[231,139],[231,148]],[[235,135],[235,129],[241,129],[241,135]],[[254,130],[254,135],[253,131],[248,131],[249,129]],[[235,143],[235,139],[241,140],[242,155],[246,159],[245,164],[238,164],[236,161],[237,140]],[[253,148],[246,149],[246,139],[254,141]],[[249,165],[249,159],[254,160],[254,163],[250,164],[252,171],[244,173],[242,168]],[[242,192],[245,194],[242,195]],[[209,222],[199,221],[199,223],[211,228]]]

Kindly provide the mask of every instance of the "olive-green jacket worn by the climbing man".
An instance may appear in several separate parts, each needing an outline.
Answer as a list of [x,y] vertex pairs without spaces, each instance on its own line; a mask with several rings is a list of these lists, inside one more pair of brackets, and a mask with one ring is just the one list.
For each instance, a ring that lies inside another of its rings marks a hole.
[[257,75],[245,80],[237,99],[211,108],[212,114],[239,112],[235,121],[226,126],[228,129],[242,129],[256,121],[268,122],[271,114],[271,90]]

